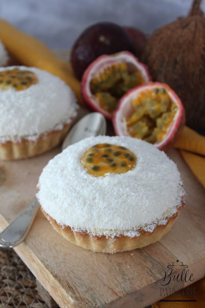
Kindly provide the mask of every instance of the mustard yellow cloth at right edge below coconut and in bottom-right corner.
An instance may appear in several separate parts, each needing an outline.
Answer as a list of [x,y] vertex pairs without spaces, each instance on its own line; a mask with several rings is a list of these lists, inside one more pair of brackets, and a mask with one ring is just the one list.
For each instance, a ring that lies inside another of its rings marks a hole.
[[[195,174],[199,182],[205,188],[205,137],[199,135],[187,126],[174,144],[178,148]],[[191,284],[190,288],[196,288],[195,297],[168,296],[166,300],[196,299],[196,302],[156,302],[152,308],[204,308],[205,307],[205,278]]]

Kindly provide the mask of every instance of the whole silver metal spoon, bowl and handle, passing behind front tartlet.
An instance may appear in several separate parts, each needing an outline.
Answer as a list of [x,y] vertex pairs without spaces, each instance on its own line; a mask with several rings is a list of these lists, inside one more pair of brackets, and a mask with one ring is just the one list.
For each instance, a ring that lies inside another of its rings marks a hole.
[[[85,115],[66,136],[62,150],[86,137],[105,135],[106,121],[99,112]],[[39,208],[36,197],[30,205],[0,234],[0,247],[12,248],[19,245],[28,234]]]

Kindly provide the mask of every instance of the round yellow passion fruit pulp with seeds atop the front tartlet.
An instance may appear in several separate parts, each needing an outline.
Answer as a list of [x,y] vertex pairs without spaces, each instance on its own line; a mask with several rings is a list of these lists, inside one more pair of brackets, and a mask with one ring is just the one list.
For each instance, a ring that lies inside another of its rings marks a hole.
[[93,176],[105,173],[124,173],[136,166],[133,152],[115,144],[99,143],[89,148],[82,157],[82,164]]

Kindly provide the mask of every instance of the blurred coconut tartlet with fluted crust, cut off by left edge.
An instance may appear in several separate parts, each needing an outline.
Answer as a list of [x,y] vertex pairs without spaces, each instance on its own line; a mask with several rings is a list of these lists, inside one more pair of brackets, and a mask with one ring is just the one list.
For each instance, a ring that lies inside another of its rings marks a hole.
[[54,148],[77,115],[70,87],[35,67],[1,67],[0,95],[0,159],[36,156]]

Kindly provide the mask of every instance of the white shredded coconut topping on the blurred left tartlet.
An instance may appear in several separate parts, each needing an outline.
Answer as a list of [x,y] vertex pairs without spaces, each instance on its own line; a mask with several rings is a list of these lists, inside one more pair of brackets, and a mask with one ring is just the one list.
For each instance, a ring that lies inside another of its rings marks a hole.
[[[7,67],[13,69],[15,67]],[[36,140],[40,134],[61,129],[77,115],[77,103],[67,84],[46,71],[35,67],[18,67],[34,72],[38,83],[25,90],[0,88],[0,142]],[[1,67],[0,71],[4,71]]]

